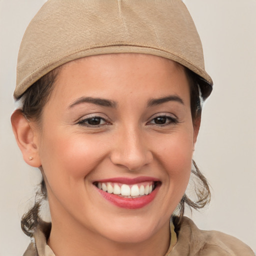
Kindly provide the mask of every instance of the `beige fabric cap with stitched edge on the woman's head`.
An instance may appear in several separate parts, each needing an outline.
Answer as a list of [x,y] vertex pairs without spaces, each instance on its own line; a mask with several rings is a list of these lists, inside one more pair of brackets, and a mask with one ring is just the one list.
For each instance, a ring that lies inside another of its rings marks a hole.
[[48,0],[22,38],[14,97],[63,63],[119,52],[172,59],[202,78],[203,98],[211,92],[201,41],[181,0]]

